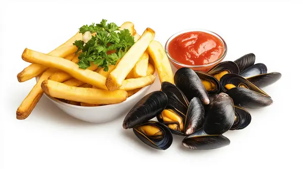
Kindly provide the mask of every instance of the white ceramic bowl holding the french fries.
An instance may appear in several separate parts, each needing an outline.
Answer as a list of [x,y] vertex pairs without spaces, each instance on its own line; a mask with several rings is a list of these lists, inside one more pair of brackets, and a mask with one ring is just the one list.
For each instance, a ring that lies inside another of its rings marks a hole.
[[[155,75],[156,70],[155,70]],[[157,75],[156,75],[157,76]],[[157,77],[156,77],[157,78]],[[36,78],[38,80],[38,77]],[[156,82],[156,81],[155,81]],[[152,84],[153,85],[153,84]],[[71,105],[65,102],[62,102],[56,98],[52,98],[46,94],[49,100],[51,100],[57,107],[59,107],[63,112],[69,114],[72,117],[77,119],[90,122],[90,123],[106,123],[113,121],[121,116],[125,116],[126,113],[141,99],[143,98],[151,85],[142,88],[140,91],[135,93],[126,99],[126,101],[112,104],[112,105],[103,105],[95,107],[84,107]]]

